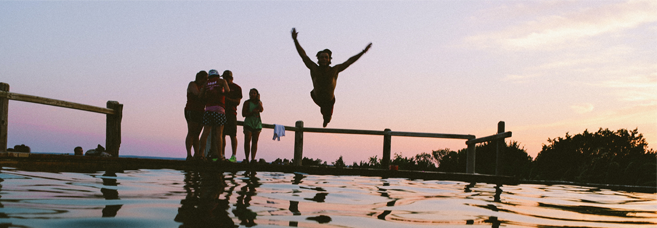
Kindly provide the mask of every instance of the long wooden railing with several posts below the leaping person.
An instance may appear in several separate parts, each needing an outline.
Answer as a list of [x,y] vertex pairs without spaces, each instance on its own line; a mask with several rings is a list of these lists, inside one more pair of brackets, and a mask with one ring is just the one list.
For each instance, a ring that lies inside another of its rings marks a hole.
[[[237,125],[244,125],[243,121],[237,121]],[[262,124],[263,128],[274,128],[273,124]],[[459,134],[442,134],[442,133],[418,133],[418,132],[401,132],[391,131],[385,129],[383,131],[373,130],[353,130],[353,129],[331,129],[331,128],[305,128],[303,121],[296,122],[294,127],[285,126],[286,131],[294,131],[294,165],[300,166],[303,159],[303,133],[334,133],[334,134],[358,134],[358,135],[382,135],[383,136],[383,157],[381,158],[381,165],[388,167],[390,165],[390,144],[392,136],[405,136],[405,137],[426,137],[426,138],[443,138],[443,139],[465,139],[468,145],[468,159],[466,166],[466,173],[475,173],[475,148],[477,143],[496,141],[497,146],[497,168],[496,175],[501,175],[498,171],[501,169],[502,163],[502,148],[500,142],[504,143],[504,139],[511,137],[511,132],[504,132],[504,122],[500,121],[497,125],[498,134],[477,138],[474,135],[459,135]]]

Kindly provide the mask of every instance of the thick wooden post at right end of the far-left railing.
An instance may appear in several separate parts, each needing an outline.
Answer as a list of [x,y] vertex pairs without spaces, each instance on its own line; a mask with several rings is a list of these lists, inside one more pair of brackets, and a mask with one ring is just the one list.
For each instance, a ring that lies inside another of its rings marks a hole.
[[113,157],[119,156],[121,147],[121,119],[123,118],[123,104],[118,101],[107,101],[107,108],[114,110],[114,114],[107,114],[105,131],[105,150]]

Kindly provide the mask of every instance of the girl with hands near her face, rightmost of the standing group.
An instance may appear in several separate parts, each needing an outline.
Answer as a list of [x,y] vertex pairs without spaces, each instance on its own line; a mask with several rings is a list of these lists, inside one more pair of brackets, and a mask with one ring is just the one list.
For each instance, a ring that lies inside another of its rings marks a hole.
[[251,162],[255,162],[255,155],[258,152],[258,138],[262,131],[262,120],[260,113],[263,111],[260,93],[253,88],[249,91],[249,99],[242,105],[242,116],[244,116],[244,161],[249,162],[249,153]]

